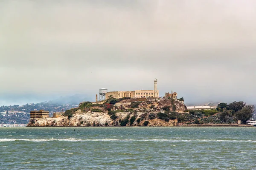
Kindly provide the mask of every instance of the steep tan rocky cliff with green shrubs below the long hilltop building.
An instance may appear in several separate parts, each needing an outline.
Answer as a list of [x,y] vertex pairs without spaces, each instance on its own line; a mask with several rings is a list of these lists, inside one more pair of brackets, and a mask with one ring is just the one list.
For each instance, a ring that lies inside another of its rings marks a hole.
[[183,102],[171,99],[109,102],[113,103],[85,102],[58,118],[30,119],[28,126],[176,126],[177,118],[169,116],[169,112],[186,110]]

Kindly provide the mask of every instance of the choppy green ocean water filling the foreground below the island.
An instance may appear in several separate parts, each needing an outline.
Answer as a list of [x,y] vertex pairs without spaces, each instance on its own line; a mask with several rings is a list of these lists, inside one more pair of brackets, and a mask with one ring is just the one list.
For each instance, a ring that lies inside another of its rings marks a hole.
[[256,169],[256,127],[1,127],[1,169]]

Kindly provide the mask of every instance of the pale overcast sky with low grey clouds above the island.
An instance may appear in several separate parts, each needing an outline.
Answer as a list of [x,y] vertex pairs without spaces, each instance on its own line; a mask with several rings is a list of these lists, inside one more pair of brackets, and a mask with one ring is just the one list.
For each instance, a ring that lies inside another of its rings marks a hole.
[[255,0],[1,0],[0,105],[108,91],[256,103]]

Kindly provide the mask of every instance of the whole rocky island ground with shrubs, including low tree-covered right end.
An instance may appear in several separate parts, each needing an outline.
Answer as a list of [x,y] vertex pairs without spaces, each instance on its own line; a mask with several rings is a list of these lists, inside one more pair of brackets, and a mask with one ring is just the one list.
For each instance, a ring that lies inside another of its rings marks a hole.
[[30,119],[27,126],[236,126],[238,120],[245,123],[250,119],[252,107],[233,102],[221,103],[212,110],[188,111],[181,100],[110,98],[102,102],[83,102],[58,118]]

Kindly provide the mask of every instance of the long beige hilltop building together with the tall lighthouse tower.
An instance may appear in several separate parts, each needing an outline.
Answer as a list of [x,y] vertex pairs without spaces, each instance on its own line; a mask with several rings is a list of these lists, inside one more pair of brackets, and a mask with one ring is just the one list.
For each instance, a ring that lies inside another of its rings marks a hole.
[[106,99],[109,98],[149,98],[149,97],[159,97],[159,91],[157,90],[157,79],[154,80],[154,90],[135,90],[135,91],[108,91],[106,93]]

